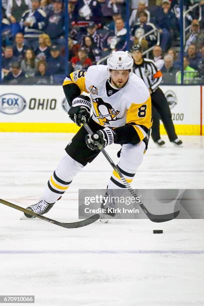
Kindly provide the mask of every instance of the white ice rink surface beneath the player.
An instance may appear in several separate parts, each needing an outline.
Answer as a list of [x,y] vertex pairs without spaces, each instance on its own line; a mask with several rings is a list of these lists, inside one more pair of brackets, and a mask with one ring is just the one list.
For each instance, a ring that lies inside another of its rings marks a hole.
[[[70,137],[0,133],[0,198],[34,203]],[[204,138],[182,136],[182,148],[163,138],[165,148],[150,141],[132,186],[203,188]],[[114,161],[117,148],[107,148]],[[105,188],[111,172],[99,155],[47,216],[75,221],[78,187]],[[0,204],[0,294],[34,294],[36,305],[54,306],[204,305],[203,220],[111,220],[65,229],[20,216]]]

